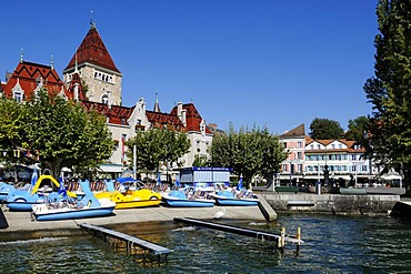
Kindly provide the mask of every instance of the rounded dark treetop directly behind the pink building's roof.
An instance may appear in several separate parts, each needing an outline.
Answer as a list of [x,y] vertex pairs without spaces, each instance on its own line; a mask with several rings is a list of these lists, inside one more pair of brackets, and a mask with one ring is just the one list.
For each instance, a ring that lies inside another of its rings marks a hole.
[[309,135],[314,140],[335,140],[344,135],[340,123],[324,118],[315,118],[310,124]]

